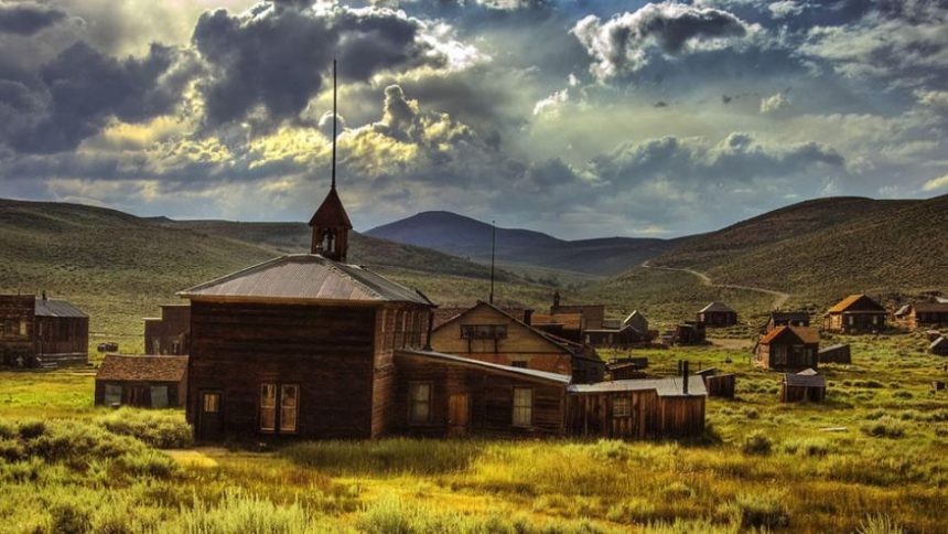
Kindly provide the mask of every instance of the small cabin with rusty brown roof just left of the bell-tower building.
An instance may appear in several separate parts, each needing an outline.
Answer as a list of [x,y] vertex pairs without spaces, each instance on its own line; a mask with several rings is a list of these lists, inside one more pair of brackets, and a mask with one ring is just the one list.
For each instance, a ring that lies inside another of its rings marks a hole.
[[179,408],[187,399],[187,356],[106,354],[96,373],[96,406]]

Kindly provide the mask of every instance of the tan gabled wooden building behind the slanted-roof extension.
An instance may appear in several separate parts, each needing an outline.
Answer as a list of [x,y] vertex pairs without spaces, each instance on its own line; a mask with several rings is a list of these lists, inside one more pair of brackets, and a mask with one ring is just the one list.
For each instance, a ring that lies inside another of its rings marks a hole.
[[592,348],[532,328],[487,302],[434,329],[431,348],[498,365],[572,375],[573,382],[599,382],[605,373],[605,362]]

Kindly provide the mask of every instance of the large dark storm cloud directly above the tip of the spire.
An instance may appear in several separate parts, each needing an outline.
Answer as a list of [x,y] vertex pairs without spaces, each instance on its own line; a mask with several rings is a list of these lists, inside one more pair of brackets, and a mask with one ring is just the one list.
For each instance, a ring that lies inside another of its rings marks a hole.
[[441,66],[421,39],[422,22],[385,9],[301,10],[258,4],[249,13],[205,13],[194,45],[211,65],[202,84],[211,125],[239,120],[262,106],[277,120],[297,117],[323,85],[334,55],[344,79],[389,68]]

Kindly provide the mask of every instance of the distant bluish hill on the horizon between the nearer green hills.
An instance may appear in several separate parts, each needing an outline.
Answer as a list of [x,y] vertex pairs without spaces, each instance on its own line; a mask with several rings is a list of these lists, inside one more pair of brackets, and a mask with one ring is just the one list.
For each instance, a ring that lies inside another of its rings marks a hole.
[[[451,212],[423,212],[366,232],[373,237],[434,248],[478,261],[491,259],[491,225]],[[497,260],[616,275],[674,248],[680,239],[605,237],[564,241],[541,232],[497,228]]]

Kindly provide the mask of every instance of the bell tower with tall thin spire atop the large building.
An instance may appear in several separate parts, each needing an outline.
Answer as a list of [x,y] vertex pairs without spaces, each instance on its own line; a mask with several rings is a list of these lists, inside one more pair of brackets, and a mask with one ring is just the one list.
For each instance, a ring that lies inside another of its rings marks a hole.
[[345,261],[348,235],[353,227],[343,201],[336,192],[336,61],[333,60],[333,174],[330,194],[310,220],[313,241],[310,252],[333,261]]

